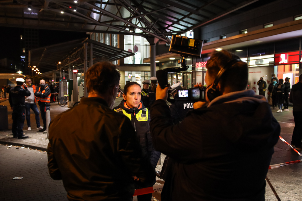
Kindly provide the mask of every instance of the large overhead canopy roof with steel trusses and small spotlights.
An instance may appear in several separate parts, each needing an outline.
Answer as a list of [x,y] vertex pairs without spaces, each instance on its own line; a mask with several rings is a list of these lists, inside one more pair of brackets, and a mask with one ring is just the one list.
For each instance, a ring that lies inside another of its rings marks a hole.
[[2,0],[0,26],[139,35],[169,44],[172,34],[206,25],[257,1]]

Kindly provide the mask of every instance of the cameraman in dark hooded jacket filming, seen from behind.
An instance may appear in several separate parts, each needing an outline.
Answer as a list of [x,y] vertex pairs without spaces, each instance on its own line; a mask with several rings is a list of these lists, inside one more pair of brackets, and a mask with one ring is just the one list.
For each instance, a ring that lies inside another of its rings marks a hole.
[[[161,200],[265,200],[265,177],[280,125],[266,98],[246,90],[248,67],[238,56],[214,51],[206,68],[207,105],[199,102],[202,107],[177,125],[165,102],[170,86],[157,86],[152,141],[174,160]],[[220,71],[222,77],[214,82]],[[211,93],[213,85],[216,93]]]

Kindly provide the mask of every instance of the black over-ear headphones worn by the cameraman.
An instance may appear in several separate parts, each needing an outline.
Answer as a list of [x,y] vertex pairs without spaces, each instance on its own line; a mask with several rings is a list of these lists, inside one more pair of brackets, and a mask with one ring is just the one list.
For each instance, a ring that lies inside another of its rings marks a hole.
[[232,65],[234,65],[235,63],[240,62],[240,61],[241,61],[240,59],[232,59],[232,60],[228,61],[226,63],[226,65],[222,69],[220,69],[220,71],[218,72],[218,74],[217,74],[217,76],[216,76],[216,78],[215,78],[215,80],[214,80],[211,88],[209,88],[209,90],[206,93],[206,95],[207,95],[207,97],[208,97],[208,99],[210,101],[212,101],[214,98],[216,98],[216,97],[218,97],[218,96],[221,95],[220,91],[218,91],[216,89],[216,87],[218,85],[218,82],[220,81],[220,78],[221,78],[222,74],[227,69],[229,69],[230,67],[232,67]]

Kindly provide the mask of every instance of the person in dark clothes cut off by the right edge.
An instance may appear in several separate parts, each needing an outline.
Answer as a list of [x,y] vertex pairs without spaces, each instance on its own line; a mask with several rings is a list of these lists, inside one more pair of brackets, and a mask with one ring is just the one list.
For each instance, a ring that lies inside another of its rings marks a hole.
[[291,145],[295,145],[298,150],[302,149],[302,75],[299,76],[299,82],[293,85],[289,101],[294,104],[293,115],[295,120],[295,128]]

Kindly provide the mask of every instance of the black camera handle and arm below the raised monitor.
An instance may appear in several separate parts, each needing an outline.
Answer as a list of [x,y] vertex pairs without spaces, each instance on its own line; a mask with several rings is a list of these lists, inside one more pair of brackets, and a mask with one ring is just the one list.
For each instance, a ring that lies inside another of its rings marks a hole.
[[[159,86],[164,89],[167,87],[168,85],[168,72],[181,72],[181,71],[186,71],[188,69],[187,66],[187,62],[186,62],[186,55],[181,55],[182,59],[181,59],[181,67],[182,68],[166,68],[164,70],[158,70],[156,71],[156,78],[157,78],[157,82],[159,84]],[[170,97],[168,97],[167,99],[168,102],[170,103],[174,103],[175,100],[171,99]]]

